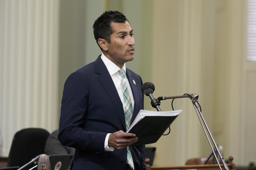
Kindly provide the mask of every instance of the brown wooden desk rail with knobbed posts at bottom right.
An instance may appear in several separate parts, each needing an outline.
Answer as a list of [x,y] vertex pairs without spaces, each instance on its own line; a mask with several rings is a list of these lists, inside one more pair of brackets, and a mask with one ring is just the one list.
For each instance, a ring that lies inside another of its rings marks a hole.
[[[229,157],[230,163],[227,163],[227,166],[230,170],[234,169],[234,164],[232,163],[233,157]],[[150,162],[150,159],[146,158],[146,170],[169,170],[169,169],[200,169],[200,170],[218,170],[220,169],[218,164],[193,164],[193,165],[182,165],[182,166],[150,166],[148,163]],[[223,164],[221,164],[221,168],[225,169],[223,167]]]

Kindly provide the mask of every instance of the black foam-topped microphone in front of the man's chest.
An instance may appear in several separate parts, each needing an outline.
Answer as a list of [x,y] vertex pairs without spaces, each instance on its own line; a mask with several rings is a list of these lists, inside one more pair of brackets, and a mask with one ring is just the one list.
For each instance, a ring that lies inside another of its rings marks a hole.
[[152,107],[156,108],[157,111],[162,111],[160,108],[160,102],[154,98],[153,92],[155,91],[155,86],[151,82],[146,82],[141,85],[141,91],[146,95],[149,96],[151,99],[151,105]]

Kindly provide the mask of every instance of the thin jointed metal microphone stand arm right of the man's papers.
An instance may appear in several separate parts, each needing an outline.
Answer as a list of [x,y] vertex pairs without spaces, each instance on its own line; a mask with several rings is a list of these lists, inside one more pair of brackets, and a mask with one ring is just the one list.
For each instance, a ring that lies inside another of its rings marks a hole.
[[[203,130],[204,130],[204,133],[205,133],[205,135],[206,135],[206,138],[207,138],[207,140],[208,140],[208,142],[209,142],[209,144],[210,144],[210,148],[211,148],[211,150],[212,150],[212,153],[214,153],[214,156],[215,156],[215,158],[216,158],[216,160],[217,160],[217,162],[218,162],[218,165],[219,165],[220,169],[222,169],[222,168],[221,168],[221,165],[220,165],[220,161],[219,161],[219,159],[218,159],[218,157],[217,157],[217,155],[216,155],[216,153],[215,153],[215,151],[214,151],[214,148],[212,147],[212,144],[211,144],[211,142],[210,142],[210,139],[211,139],[212,143],[214,143],[214,145],[215,145],[215,149],[217,150],[218,155],[219,155],[219,157],[221,158],[221,161],[222,161],[222,163],[223,163],[224,168],[225,168],[226,170],[229,170],[229,168],[228,168],[226,162],[224,161],[224,158],[222,157],[222,155],[221,155],[221,153],[220,153],[220,151],[219,151],[219,148],[218,148],[218,146],[217,146],[217,144],[216,144],[216,142],[215,142],[215,140],[214,140],[214,137],[212,137],[211,132],[210,132],[210,130],[209,130],[209,128],[208,128],[208,126],[207,126],[207,124],[206,124],[206,122],[205,122],[204,116],[203,116],[203,114],[202,114],[202,112],[201,112],[201,107],[200,107],[200,105],[199,105],[199,103],[198,103],[198,98],[199,98],[199,95],[198,95],[198,94],[195,94],[195,93],[194,93],[194,94],[184,94],[184,95],[168,96],[168,97],[166,97],[166,96],[161,96],[161,97],[157,98],[157,100],[160,102],[161,100],[166,100],[166,99],[178,99],[178,98],[189,98],[189,99],[191,100],[191,102],[193,103],[193,106],[194,106],[194,108],[195,108],[195,110],[196,110],[196,113],[197,113],[197,115],[198,115],[198,118],[199,118],[199,120],[200,120],[200,123],[201,123],[201,125],[202,125],[202,128],[203,128]],[[206,132],[205,128],[206,128],[207,132]],[[210,139],[209,139],[209,136],[208,136],[208,135],[210,136]]]

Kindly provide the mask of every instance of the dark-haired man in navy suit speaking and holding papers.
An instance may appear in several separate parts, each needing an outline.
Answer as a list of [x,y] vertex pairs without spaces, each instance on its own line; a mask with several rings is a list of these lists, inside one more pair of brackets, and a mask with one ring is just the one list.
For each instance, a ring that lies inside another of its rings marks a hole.
[[[132,145],[136,134],[125,133],[124,99],[119,69],[124,69],[133,115],[144,96],[139,75],[125,67],[134,59],[133,29],[118,11],[104,12],[93,25],[102,54],[67,79],[61,102],[58,139],[75,148],[72,169],[146,169],[144,145]],[[133,163],[127,163],[127,147]]]

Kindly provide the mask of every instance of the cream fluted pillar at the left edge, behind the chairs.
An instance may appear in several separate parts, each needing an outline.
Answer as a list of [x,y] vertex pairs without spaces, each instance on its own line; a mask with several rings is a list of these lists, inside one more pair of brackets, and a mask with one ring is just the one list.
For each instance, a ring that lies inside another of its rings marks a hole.
[[59,1],[0,0],[0,128],[3,155],[27,127],[58,127]]

